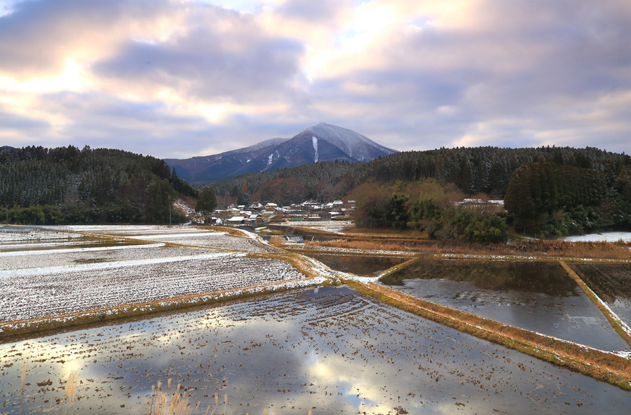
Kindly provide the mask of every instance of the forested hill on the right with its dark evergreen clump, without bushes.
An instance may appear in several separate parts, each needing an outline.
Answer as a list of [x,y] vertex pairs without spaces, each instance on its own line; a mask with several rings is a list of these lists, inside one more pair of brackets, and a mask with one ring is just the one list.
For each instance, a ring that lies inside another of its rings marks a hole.
[[[631,229],[631,157],[598,148],[407,151],[365,163],[322,162],[247,174],[213,185],[220,197],[235,197],[247,188],[252,201],[288,204],[359,197],[353,190],[360,185],[365,192],[383,183],[415,183],[427,178],[454,183],[468,195],[506,197],[508,213],[518,230],[555,234],[561,228],[574,233]],[[366,183],[373,183],[372,188]],[[400,196],[407,197],[408,208],[415,202],[411,195]]]

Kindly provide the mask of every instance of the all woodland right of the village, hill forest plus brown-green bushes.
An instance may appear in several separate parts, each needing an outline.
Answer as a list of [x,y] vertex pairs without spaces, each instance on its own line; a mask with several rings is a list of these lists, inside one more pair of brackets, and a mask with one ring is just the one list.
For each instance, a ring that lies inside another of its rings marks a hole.
[[[487,243],[507,230],[545,237],[631,230],[631,157],[598,148],[440,148],[372,162],[320,162],[215,182],[279,204],[355,199],[360,227],[416,229],[429,237]],[[506,211],[462,206],[464,197],[506,199]]]

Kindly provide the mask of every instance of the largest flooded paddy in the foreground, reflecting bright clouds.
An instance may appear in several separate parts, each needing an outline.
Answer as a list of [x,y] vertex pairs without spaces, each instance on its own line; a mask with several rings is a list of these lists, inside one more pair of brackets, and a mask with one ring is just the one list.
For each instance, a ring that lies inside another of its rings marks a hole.
[[[350,288],[156,314],[0,344],[0,413],[144,414],[172,379],[226,414],[627,414],[631,393]],[[224,396],[227,405],[224,407]],[[69,407],[66,400],[65,408]],[[406,411],[406,412],[404,412]]]

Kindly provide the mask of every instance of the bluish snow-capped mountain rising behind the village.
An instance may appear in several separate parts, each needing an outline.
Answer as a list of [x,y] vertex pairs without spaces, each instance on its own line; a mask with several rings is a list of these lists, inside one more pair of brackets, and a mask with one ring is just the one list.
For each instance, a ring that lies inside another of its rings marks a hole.
[[367,162],[392,153],[398,152],[351,129],[321,122],[292,139],[269,139],[217,155],[165,159],[165,162],[175,168],[179,177],[199,184],[255,171],[273,171],[323,161]]

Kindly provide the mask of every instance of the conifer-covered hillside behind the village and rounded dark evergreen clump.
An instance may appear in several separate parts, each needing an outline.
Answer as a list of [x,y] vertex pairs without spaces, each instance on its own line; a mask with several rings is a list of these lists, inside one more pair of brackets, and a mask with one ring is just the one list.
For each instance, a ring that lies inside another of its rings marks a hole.
[[623,171],[631,168],[629,155],[609,153],[597,148],[440,148],[406,151],[365,163],[320,162],[294,169],[244,174],[212,185],[218,195],[225,197],[231,194],[236,196],[245,182],[250,193],[255,195],[260,188],[269,187],[272,184],[270,182],[282,179],[301,187],[303,193],[299,198],[328,199],[343,197],[369,179],[411,182],[437,178],[455,183],[468,194],[484,192],[501,199],[506,195],[513,171],[528,162],[556,162],[594,169],[604,174],[609,185],[613,185],[613,181]]

